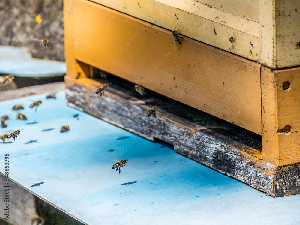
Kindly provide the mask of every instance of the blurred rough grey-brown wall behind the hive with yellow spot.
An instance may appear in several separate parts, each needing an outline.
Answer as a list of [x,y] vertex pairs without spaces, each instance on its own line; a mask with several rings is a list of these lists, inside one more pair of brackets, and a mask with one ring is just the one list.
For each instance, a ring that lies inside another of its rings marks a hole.
[[[34,40],[45,37],[49,48]],[[63,0],[0,0],[0,45],[24,46],[33,57],[64,61]]]

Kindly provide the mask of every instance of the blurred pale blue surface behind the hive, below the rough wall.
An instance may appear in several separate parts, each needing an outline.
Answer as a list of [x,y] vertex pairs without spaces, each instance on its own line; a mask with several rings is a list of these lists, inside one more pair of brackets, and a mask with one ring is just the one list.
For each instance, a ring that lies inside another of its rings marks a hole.
[[65,62],[32,58],[26,48],[0,45],[0,73],[48,77],[66,73]]

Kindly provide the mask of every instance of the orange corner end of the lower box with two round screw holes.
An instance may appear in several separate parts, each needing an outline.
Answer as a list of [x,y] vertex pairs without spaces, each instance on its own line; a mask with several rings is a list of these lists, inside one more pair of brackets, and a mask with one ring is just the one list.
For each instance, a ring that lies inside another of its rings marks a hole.
[[[283,83],[289,82],[283,90]],[[277,166],[300,162],[300,68],[262,68],[262,158]],[[290,132],[282,132],[289,125]]]

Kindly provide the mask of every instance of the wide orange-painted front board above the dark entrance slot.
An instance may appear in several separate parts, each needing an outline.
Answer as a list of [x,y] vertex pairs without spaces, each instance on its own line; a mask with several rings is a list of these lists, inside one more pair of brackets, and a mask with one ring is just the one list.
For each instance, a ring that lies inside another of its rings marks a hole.
[[189,38],[177,48],[170,31],[106,11],[74,0],[73,39],[90,32],[76,60],[261,134],[260,64]]

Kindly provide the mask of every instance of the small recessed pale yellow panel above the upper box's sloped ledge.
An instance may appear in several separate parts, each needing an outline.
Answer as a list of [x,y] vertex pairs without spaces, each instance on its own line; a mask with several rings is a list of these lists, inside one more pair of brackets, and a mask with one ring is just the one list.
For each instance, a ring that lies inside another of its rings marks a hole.
[[209,6],[259,22],[259,0],[197,0]]

